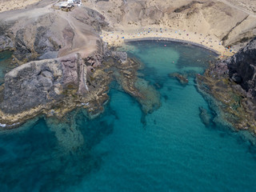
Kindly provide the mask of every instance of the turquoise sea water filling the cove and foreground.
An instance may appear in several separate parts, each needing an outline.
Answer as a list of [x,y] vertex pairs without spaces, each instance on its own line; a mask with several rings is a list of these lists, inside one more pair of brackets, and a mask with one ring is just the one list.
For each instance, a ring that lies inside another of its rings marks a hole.
[[[194,86],[212,53],[174,42],[131,47],[162,106],[143,123],[138,102],[113,88],[105,113],[94,120],[77,110],[66,122],[38,118],[2,132],[1,191],[256,191],[255,146],[199,116],[203,107],[214,117]],[[172,72],[188,74],[189,84],[169,78]]]

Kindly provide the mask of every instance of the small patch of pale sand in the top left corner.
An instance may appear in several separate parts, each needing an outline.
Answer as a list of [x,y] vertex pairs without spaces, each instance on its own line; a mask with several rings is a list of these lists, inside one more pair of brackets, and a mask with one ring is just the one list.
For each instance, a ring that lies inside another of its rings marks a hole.
[[19,10],[41,0],[0,0],[0,12],[6,10]]

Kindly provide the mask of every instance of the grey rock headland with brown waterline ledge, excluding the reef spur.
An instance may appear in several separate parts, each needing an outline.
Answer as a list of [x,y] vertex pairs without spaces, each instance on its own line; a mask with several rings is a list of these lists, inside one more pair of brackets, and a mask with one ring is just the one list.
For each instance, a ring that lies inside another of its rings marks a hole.
[[[95,58],[90,61],[102,62],[100,56]],[[98,70],[95,78],[86,59],[70,54],[28,62],[7,73],[0,97],[1,125],[12,127],[38,114],[62,117],[76,106],[102,110],[110,77]]]

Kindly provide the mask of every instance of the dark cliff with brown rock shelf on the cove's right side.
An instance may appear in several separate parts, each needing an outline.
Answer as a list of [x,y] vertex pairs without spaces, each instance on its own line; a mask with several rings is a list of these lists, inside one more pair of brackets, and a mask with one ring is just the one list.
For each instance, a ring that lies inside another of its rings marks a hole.
[[[256,133],[256,38],[231,58],[198,75],[198,90],[220,112],[218,118],[238,130]],[[214,98],[213,100],[210,98]]]

